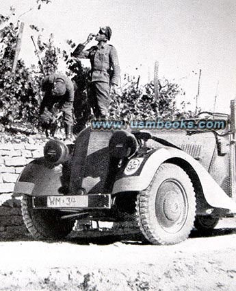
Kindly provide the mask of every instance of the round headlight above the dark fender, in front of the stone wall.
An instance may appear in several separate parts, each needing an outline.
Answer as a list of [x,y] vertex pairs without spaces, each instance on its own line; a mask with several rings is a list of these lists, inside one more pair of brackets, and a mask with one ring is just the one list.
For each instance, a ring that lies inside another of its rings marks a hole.
[[68,154],[68,147],[62,141],[51,139],[44,146],[44,158],[49,163],[64,163],[68,160]]

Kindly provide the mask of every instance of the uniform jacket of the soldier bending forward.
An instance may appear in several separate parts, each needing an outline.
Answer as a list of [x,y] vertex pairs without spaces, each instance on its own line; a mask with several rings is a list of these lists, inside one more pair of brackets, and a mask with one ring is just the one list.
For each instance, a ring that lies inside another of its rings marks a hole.
[[[66,93],[62,96],[53,96],[53,86],[54,83],[58,81],[65,83]],[[66,75],[63,73],[54,73],[47,76],[42,80],[42,91],[45,91],[45,95],[40,106],[40,114],[45,107],[51,110],[55,103],[59,105],[62,111],[71,114],[70,111],[72,111],[73,108],[75,91],[73,82]]]

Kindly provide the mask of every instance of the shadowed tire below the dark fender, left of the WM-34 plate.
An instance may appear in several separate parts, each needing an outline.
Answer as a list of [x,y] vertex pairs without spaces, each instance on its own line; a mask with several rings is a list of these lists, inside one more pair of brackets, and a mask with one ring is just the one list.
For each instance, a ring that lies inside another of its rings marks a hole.
[[58,210],[34,209],[31,196],[23,196],[21,211],[27,229],[36,240],[62,239],[75,224],[75,220],[61,220]]

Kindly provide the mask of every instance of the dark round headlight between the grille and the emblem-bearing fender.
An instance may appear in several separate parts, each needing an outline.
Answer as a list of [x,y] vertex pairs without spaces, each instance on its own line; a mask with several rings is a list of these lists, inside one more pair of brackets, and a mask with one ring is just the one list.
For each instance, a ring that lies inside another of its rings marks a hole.
[[137,151],[137,139],[129,132],[119,130],[109,141],[109,153],[118,158],[129,158]]

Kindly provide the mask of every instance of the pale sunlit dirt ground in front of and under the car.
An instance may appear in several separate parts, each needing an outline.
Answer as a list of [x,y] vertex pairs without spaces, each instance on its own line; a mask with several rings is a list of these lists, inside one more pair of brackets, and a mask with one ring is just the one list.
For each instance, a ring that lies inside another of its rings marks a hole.
[[0,290],[236,290],[236,220],[174,246],[129,237],[0,242]]

